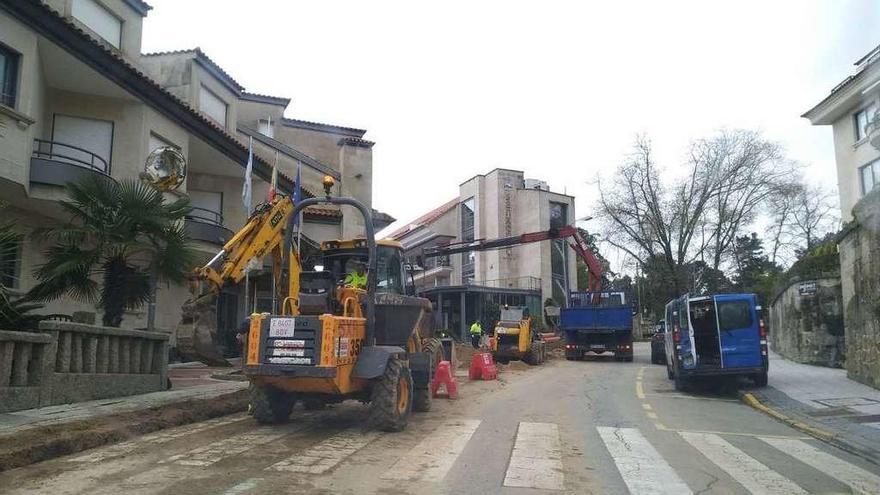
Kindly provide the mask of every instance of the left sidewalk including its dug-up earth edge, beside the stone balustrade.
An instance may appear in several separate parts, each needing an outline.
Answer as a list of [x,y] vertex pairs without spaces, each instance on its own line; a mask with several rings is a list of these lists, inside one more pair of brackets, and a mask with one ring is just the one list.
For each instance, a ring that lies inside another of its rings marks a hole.
[[174,365],[170,390],[0,413],[0,471],[243,411],[248,382],[212,378],[235,369]]

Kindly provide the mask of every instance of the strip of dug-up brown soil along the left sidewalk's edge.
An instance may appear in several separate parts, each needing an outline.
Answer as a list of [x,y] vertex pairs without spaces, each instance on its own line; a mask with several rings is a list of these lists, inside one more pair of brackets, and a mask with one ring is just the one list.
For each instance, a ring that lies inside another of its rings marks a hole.
[[247,390],[239,390],[211,399],[32,428],[0,437],[0,471],[121,442],[172,426],[245,411],[247,403]]

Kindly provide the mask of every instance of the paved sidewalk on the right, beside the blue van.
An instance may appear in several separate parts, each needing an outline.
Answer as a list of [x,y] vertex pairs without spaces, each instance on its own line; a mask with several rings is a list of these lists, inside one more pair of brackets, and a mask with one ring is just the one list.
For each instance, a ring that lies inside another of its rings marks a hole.
[[846,370],[795,363],[771,351],[768,387],[749,392],[831,433],[831,443],[880,464],[880,390],[850,380]]

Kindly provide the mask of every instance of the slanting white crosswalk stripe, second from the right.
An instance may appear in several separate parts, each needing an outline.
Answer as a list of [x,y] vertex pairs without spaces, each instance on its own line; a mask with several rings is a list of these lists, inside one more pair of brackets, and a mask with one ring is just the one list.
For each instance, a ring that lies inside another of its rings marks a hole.
[[761,464],[718,435],[684,431],[679,432],[679,435],[751,493],[759,495],[807,493],[790,479]]

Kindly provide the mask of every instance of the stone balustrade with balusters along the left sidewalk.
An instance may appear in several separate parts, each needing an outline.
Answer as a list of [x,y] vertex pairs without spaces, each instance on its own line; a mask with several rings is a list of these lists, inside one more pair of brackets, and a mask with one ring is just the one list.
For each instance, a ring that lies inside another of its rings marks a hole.
[[48,321],[0,331],[0,413],[164,390],[168,334]]

